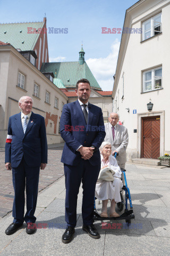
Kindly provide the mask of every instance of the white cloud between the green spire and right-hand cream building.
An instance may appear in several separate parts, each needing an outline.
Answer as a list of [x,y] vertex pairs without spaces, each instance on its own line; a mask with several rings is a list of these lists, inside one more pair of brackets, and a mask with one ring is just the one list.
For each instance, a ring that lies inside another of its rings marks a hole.
[[98,84],[103,91],[113,90],[113,75],[116,71],[119,48],[120,41],[116,39],[111,45],[111,53],[109,53],[106,58],[90,58],[86,61],[92,74],[95,76]]

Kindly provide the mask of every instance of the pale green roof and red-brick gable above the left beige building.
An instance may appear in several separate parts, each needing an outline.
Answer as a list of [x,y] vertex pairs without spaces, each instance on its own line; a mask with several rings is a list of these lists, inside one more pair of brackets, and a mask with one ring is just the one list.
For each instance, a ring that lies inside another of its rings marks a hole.
[[0,40],[18,51],[35,51],[36,67],[49,62],[46,18],[42,22],[1,23]]

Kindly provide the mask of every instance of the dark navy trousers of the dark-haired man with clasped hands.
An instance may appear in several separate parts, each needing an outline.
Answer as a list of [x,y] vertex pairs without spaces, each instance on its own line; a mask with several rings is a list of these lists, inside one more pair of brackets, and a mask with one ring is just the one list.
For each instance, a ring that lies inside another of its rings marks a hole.
[[79,187],[82,181],[82,219],[84,225],[91,225],[94,215],[95,188],[100,171],[99,165],[93,166],[88,160],[81,159],[78,166],[64,164],[65,174],[65,221],[67,226],[76,226],[77,222],[77,199]]

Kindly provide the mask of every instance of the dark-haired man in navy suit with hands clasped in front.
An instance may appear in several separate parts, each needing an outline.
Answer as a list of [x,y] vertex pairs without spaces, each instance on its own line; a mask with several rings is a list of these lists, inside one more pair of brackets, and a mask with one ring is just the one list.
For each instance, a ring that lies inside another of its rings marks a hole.
[[93,225],[94,197],[100,171],[99,147],[105,138],[105,126],[101,108],[88,102],[90,82],[81,79],[75,92],[78,100],[64,105],[60,120],[61,136],[65,140],[61,162],[65,173],[65,220],[67,228],[63,243],[70,243],[77,222],[77,198],[82,181],[83,230],[92,238],[100,235]]

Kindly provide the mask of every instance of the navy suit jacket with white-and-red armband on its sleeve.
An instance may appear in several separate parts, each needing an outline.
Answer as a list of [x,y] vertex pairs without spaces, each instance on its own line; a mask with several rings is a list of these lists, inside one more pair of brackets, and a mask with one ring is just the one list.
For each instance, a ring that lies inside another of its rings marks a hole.
[[5,145],[5,163],[18,167],[22,157],[30,167],[47,163],[47,137],[44,117],[32,112],[25,134],[21,123],[21,113],[10,117],[8,135],[11,143]]

